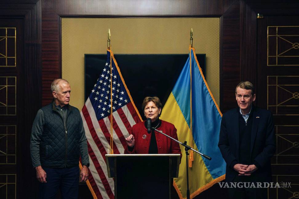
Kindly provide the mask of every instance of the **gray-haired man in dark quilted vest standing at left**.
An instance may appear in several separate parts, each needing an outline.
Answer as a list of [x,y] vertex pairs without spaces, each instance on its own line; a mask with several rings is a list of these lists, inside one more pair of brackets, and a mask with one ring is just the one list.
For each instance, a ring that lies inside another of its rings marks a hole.
[[[78,108],[69,105],[70,84],[56,79],[51,84],[53,101],[38,110],[34,119],[30,151],[40,198],[78,198],[80,181],[88,178],[89,158],[82,118]],[[82,170],[79,174],[79,157]]]

